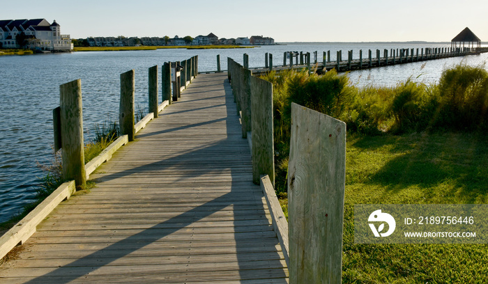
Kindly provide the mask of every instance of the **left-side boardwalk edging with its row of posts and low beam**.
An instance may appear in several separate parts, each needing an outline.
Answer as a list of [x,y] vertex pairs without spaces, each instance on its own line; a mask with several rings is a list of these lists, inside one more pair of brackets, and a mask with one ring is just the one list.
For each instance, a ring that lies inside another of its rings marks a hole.
[[[181,86],[184,90],[198,74],[198,56],[181,61],[187,70],[183,70],[185,81]],[[77,189],[81,189],[89,180],[89,175],[112,158],[116,150],[134,140],[134,136],[146,124],[158,117],[158,113],[171,104],[171,63],[162,65],[162,102],[158,104],[158,66],[149,68],[148,80],[148,109],[150,113],[135,124],[134,70],[121,74],[121,100],[119,108],[119,127],[121,136],[113,141],[100,155],[84,164],[84,137],[82,115],[81,79],[61,85],[60,107],[53,110],[54,123],[54,150],[62,149],[63,180],[66,180],[42,203],[27,214],[13,228],[0,237],[0,259],[9,253],[15,246],[24,244],[34,232],[38,224],[54,210],[63,200],[67,200]],[[176,77],[175,80],[180,80]]]

